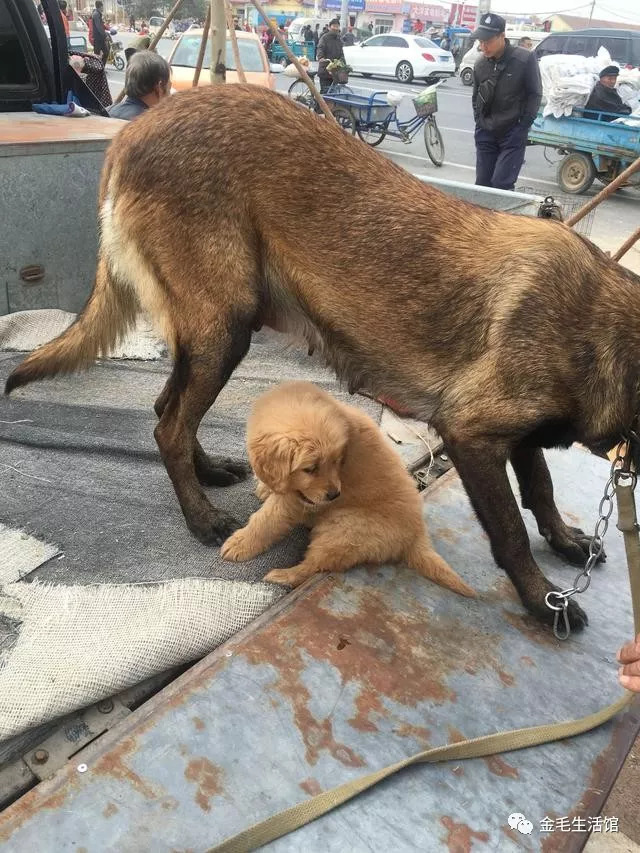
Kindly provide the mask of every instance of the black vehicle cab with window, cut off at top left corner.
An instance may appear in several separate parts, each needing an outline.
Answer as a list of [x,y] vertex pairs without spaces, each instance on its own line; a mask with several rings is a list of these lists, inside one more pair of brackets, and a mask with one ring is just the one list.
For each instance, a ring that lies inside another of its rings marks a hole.
[[42,102],[64,104],[72,91],[83,107],[106,115],[69,67],[57,2],[42,0],[42,7],[49,38],[32,0],[0,0],[0,112],[30,111],[32,104]]

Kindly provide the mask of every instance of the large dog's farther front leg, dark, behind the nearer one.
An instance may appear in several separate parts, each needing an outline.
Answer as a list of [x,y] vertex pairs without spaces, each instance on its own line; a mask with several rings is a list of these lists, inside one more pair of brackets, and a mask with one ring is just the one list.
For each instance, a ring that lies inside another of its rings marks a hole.
[[[562,520],[553,498],[551,474],[542,449],[516,447],[511,454],[511,464],[520,485],[522,506],[534,514],[540,535],[570,563],[584,565],[591,537]],[[604,554],[601,559],[606,559]]]

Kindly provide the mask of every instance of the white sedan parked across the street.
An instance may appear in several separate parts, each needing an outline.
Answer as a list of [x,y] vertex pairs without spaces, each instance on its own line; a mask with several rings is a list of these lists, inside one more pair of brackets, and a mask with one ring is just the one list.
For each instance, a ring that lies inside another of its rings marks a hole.
[[410,83],[414,77],[454,77],[456,63],[448,50],[424,36],[385,33],[344,48],[347,65],[364,77],[382,74]]

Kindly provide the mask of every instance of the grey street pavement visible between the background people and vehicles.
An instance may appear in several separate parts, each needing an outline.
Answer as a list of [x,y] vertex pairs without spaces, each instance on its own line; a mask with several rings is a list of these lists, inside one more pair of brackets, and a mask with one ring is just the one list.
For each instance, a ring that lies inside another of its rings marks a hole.
[[[122,32],[116,37],[129,46],[135,35]],[[160,39],[158,52],[168,57],[175,41],[167,38]],[[124,72],[116,71],[108,66],[107,76],[112,93],[117,94],[124,85]],[[291,85],[291,78],[278,74],[276,88],[286,93]],[[404,92],[407,98],[398,109],[401,119],[407,119],[413,114],[411,97],[415,96],[426,85],[423,81],[413,84],[398,83],[392,78],[368,78],[352,75],[349,85],[362,89],[367,93],[393,89]],[[471,110],[471,87],[464,86],[457,77],[446,80],[438,89],[438,126],[442,132],[445,145],[445,162],[440,168],[433,165],[427,156],[424,138],[418,133],[410,144],[400,140],[385,139],[377,150],[394,160],[398,165],[417,175],[430,175],[447,180],[474,183],[475,181],[475,148],[473,142],[473,115]],[[538,195],[553,195],[562,202],[571,205],[581,204],[590,196],[599,192],[603,185],[595,181],[588,193],[580,196],[566,196],[560,190],[556,181],[557,163],[560,160],[552,149],[541,146],[531,146],[527,149],[524,166],[518,179],[517,188]],[[618,191],[615,196],[595,211],[590,234],[601,248],[612,250],[619,246],[627,236],[640,226],[640,189],[629,188]],[[629,264],[637,267],[640,272],[640,250],[630,253]]]

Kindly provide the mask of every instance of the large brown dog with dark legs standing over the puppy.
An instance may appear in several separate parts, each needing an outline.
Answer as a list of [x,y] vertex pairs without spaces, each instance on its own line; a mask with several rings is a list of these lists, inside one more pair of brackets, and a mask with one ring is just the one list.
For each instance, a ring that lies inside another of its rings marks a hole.
[[[632,424],[637,276],[561,223],[445,196],[251,86],[180,94],[132,122],[109,149],[99,204],[91,298],[7,392],[88,366],[142,306],[175,357],[156,403],[158,446],[190,529],[219,543],[238,525],[198,479],[224,484],[242,469],[209,460],[198,425],[253,329],[301,333],[352,390],[433,424],[497,563],[550,621],[554,587],[531,554],[506,463],[542,535],[582,562],[588,538],[560,517],[540,448],[601,449]],[[573,601],[569,618],[586,622]]]

